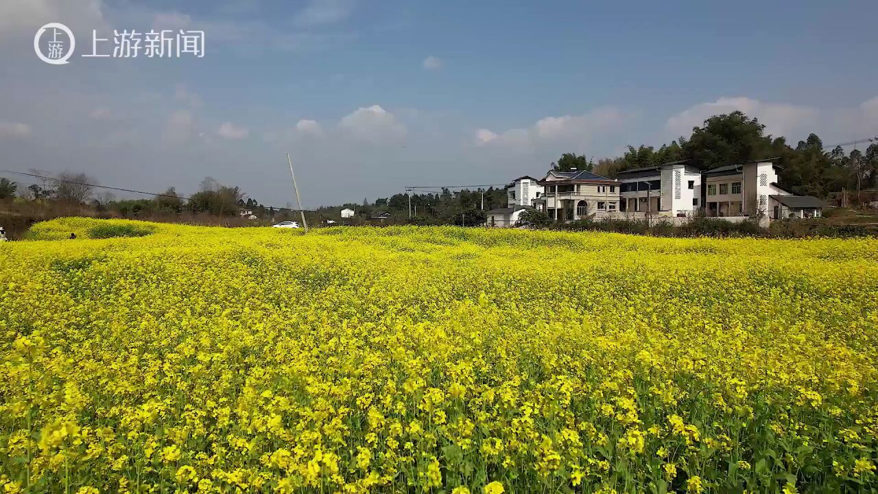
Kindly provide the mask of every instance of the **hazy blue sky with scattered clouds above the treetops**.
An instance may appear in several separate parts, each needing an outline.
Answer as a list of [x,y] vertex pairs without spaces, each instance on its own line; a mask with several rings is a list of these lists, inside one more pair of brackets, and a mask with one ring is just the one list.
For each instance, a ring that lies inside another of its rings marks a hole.
[[[266,204],[503,183],[562,152],[659,145],[712,113],[772,134],[878,134],[873,2],[4,0],[6,169]],[[65,66],[33,34],[64,23]],[[86,59],[91,30],[199,29],[204,58]]]

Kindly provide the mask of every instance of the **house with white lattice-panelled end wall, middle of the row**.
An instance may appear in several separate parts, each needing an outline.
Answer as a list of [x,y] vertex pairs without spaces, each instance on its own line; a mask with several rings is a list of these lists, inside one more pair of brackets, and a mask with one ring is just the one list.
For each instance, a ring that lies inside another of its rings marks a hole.
[[702,206],[702,173],[687,160],[620,171],[615,179],[625,213],[689,216]]

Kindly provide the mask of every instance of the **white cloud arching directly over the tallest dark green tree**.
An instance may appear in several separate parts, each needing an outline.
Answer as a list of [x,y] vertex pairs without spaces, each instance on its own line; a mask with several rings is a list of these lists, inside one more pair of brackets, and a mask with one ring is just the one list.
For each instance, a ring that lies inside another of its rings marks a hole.
[[667,120],[666,127],[673,135],[688,136],[692,127],[702,125],[705,119],[736,110],[755,117],[766,126],[766,133],[774,136],[799,137],[817,126],[817,108],[785,103],[766,103],[752,98],[719,98],[711,103],[694,105]]

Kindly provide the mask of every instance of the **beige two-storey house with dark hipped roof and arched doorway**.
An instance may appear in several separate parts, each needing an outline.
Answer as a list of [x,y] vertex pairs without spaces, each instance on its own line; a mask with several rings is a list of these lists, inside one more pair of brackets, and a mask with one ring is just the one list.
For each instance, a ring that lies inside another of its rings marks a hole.
[[606,216],[619,210],[619,182],[591,171],[550,171],[538,181],[543,195],[534,207],[556,222]]

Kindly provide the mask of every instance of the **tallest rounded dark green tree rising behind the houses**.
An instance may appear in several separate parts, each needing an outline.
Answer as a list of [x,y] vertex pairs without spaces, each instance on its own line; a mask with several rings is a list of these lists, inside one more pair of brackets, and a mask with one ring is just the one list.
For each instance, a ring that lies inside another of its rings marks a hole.
[[715,115],[694,127],[692,136],[682,141],[681,156],[704,170],[733,163],[746,163],[770,157],[774,150],[770,135],[757,119],[741,112]]

